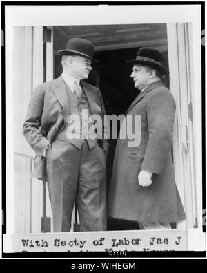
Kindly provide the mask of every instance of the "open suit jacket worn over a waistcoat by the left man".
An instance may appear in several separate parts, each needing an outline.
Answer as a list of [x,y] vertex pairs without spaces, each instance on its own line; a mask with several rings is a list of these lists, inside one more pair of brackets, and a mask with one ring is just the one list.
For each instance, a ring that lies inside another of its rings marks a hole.
[[[90,113],[100,115],[103,120],[105,109],[99,89],[82,81],[81,88],[86,94]],[[67,117],[70,115],[67,92],[61,76],[37,86],[23,124],[23,135],[37,155],[34,158],[33,176],[41,180],[47,180],[43,152],[48,142],[55,140],[58,133],[64,129]],[[103,133],[106,133],[106,130],[103,124]],[[100,139],[99,144],[107,152],[107,140]]]

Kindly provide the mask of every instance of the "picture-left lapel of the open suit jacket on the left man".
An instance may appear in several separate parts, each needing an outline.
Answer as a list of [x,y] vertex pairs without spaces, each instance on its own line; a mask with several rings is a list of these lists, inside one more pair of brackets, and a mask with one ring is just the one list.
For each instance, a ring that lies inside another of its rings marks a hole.
[[68,104],[68,91],[66,89],[66,84],[61,76],[53,82],[52,90],[55,94],[55,97],[63,107],[64,117],[67,117],[70,111]]

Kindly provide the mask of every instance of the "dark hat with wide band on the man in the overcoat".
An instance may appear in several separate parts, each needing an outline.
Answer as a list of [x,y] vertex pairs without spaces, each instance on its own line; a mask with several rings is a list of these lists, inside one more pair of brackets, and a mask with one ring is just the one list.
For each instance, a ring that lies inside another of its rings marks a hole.
[[162,74],[167,74],[169,71],[163,65],[165,59],[165,55],[155,48],[139,48],[136,59],[127,62],[157,68]]

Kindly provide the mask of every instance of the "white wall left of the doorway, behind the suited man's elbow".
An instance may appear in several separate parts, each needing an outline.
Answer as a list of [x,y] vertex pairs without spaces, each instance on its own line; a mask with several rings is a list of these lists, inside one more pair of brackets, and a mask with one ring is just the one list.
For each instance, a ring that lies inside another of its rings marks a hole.
[[[15,27],[14,45],[14,232],[39,233],[42,182],[32,178],[34,151],[23,138],[22,126],[32,92],[43,82],[42,27]],[[47,216],[51,217],[48,195]]]

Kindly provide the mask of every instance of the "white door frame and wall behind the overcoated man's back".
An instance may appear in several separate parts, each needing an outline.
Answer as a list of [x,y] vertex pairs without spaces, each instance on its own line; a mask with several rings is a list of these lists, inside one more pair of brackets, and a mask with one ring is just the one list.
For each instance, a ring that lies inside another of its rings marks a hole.
[[[177,106],[173,143],[175,180],[186,211],[186,221],[179,223],[179,228],[201,227],[198,214],[201,211],[199,200],[202,193],[201,180],[198,179],[201,173],[201,153],[199,142],[195,141],[201,136],[201,104],[194,100],[195,96],[201,97],[201,88],[195,86],[194,81],[197,75],[193,61],[197,55],[193,50],[192,28],[192,23],[168,23],[170,91]],[[193,105],[193,118],[190,104]]]

